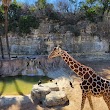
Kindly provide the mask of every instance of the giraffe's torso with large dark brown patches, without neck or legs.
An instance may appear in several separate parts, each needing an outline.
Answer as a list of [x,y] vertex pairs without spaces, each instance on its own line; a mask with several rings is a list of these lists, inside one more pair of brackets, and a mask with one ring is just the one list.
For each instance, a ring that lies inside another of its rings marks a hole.
[[89,93],[96,97],[100,97],[105,92],[110,94],[110,81],[96,74],[92,74],[89,75],[88,79],[84,79],[82,81],[81,89],[83,92]]

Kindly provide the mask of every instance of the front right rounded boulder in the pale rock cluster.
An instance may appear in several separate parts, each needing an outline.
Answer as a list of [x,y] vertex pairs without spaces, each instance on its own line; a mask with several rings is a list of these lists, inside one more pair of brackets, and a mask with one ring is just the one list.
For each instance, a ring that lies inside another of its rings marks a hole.
[[43,104],[47,107],[51,107],[64,105],[68,101],[69,100],[64,91],[51,91],[51,93],[46,95]]

